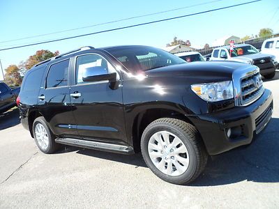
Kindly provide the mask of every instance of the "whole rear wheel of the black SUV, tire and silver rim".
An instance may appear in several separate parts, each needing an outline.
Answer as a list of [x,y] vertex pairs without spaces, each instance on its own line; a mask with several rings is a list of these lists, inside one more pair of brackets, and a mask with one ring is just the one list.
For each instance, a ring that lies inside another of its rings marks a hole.
[[52,134],[44,117],[38,117],[33,122],[33,136],[38,148],[43,153],[51,154],[59,148],[59,145],[54,140],[54,134]]

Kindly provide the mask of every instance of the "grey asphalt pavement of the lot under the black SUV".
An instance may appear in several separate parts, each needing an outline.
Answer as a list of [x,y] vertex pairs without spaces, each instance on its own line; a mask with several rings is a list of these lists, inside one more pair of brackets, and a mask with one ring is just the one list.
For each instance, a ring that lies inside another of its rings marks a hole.
[[279,208],[279,72],[269,125],[250,145],[212,157],[188,186],[157,178],[141,154],[38,150],[13,109],[0,116],[0,208]]

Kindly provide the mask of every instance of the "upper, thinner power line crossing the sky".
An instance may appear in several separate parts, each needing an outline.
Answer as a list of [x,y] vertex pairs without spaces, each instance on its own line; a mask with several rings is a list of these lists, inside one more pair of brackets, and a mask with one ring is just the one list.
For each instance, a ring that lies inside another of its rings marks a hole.
[[214,2],[217,2],[217,1],[223,1],[223,0],[215,0],[215,1],[209,1],[209,2],[204,2],[204,3],[197,3],[197,4],[191,5],[191,6],[184,6],[184,7],[181,7],[181,8],[174,8],[174,9],[171,9],[171,10],[165,10],[165,11],[161,11],[161,12],[158,12],[158,13],[149,13],[149,14],[146,14],[146,15],[128,17],[128,18],[124,18],[124,19],[120,19],[120,20],[114,20],[114,21],[110,21],[110,22],[92,24],[92,25],[89,25],[89,26],[82,26],[82,27],[75,28],[75,29],[67,29],[67,30],[56,31],[56,32],[52,32],[52,33],[44,33],[44,34],[40,34],[40,35],[36,35],[36,36],[17,38],[17,39],[13,39],[13,40],[4,40],[4,41],[1,41],[0,43],[12,42],[12,41],[16,41],[16,40],[24,40],[24,39],[29,39],[29,38],[38,38],[38,37],[42,37],[42,36],[49,36],[49,35],[53,35],[53,34],[57,34],[57,33],[69,32],[69,31],[77,31],[77,30],[80,30],[80,29],[87,29],[87,28],[91,28],[91,27],[94,27],[94,26],[101,26],[101,25],[104,25],[104,24],[112,24],[112,23],[115,23],[115,22],[123,22],[125,20],[133,20],[133,19],[140,18],[140,17],[147,17],[147,16],[151,16],[151,15],[158,15],[158,14],[163,14],[163,13],[169,13],[169,12],[176,11],[176,10],[182,10],[182,9],[185,9],[185,8],[191,8],[191,7],[195,7],[195,6],[202,6],[202,5],[209,4],[209,3],[214,3]]

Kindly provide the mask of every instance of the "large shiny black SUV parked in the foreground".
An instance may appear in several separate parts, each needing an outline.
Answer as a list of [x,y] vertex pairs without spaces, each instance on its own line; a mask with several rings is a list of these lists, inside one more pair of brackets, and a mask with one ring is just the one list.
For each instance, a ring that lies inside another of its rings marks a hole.
[[59,144],[141,151],[176,184],[197,178],[208,155],[250,144],[273,111],[257,66],[186,63],[146,46],[82,47],[38,63],[17,100],[43,153]]

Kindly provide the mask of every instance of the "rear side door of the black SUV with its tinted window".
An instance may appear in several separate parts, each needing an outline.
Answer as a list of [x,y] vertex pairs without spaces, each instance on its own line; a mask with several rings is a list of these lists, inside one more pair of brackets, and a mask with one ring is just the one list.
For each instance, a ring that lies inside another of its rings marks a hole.
[[50,65],[38,94],[40,113],[50,123],[52,132],[61,137],[78,136],[70,104],[69,63],[70,59],[65,59]]

